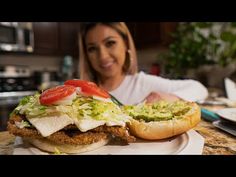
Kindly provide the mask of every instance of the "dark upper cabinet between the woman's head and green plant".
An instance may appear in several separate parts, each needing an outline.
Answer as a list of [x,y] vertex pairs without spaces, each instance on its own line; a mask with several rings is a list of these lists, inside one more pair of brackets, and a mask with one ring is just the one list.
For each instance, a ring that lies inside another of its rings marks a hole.
[[176,29],[177,22],[126,23],[137,49],[154,46],[167,46],[171,43],[170,33]]

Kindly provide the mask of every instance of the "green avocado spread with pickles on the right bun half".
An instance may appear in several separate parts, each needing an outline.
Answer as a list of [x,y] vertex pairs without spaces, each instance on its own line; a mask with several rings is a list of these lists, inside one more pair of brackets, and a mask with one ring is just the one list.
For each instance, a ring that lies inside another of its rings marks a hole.
[[186,101],[158,101],[153,104],[140,103],[138,105],[126,105],[123,110],[134,119],[150,121],[165,121],[180,119],[185,115],[191,106]]

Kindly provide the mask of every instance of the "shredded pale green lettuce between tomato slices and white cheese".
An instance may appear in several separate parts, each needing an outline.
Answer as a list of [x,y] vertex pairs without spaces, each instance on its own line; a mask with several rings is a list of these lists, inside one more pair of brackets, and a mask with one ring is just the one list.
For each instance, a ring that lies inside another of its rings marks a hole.
[[50,106],[41,105],[39,97],[37,93],[23,98],[13,112],[27,118],[66,114],[75,120],[94,119],[105,122],[127,122],[131,118],[115,103],[92,97],[77,96],[71,105]]

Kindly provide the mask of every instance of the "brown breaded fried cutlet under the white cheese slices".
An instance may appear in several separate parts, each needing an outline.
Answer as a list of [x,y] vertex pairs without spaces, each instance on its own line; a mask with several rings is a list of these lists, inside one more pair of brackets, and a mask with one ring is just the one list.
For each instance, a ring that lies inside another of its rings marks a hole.
[[69,125],[64,129],[43,137],[34,127],[18,128],[16,122],[27,121],[24,117],[13,115],[8,122],[8,131],[16,136],[48,139],[59,144],[91,144],[101,139],[108,138],[110,135],[118,137],[123,143],[133,142],[135,138],[129,135],[125,127],[100,126],[87,132],[81,132],[75,125]]

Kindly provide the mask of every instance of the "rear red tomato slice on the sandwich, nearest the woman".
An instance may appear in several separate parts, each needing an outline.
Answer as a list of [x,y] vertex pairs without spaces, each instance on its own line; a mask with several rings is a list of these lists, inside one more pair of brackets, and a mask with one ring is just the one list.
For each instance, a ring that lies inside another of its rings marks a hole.
[[107,91],[99,88],[94,82],[85,81],[85,80],[67,80],[65,85],[73,85],[75,87],[80,87],[82,92],[87,95],[100,96],[103,98],[110,98],[110,95]]

